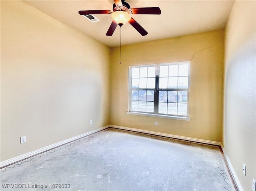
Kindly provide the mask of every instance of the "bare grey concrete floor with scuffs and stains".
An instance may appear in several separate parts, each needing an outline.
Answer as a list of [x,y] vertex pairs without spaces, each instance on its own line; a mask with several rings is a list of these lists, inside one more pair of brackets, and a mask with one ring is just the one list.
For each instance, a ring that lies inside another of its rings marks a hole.
[[1,169],[0,175],[4,191],[236,190],[217,146],[112,128]]

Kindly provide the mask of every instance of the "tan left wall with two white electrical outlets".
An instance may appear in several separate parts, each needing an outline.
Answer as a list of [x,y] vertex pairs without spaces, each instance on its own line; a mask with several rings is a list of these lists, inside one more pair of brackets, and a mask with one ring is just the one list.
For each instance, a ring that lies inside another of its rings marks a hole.
[[108,125],[109,64],[102,43],[1,1],[1,161]]

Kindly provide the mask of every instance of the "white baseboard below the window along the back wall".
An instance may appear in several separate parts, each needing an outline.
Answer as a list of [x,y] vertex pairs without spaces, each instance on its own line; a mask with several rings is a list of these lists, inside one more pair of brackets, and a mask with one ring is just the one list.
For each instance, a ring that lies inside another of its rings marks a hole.
[[220,144],[221,144],[220,142],[217,142],[217,141],[209,141],[209,140],[204,140],[204,139],[184,137],[184,136],[179,136],[179,135],[172,135],[172,134],[167,134],[167,133],[160,133],[160,132],[155,132],[155,131],[135,129],[135,128],[130,128],[130,127],[117,126],[117,125],[109,125],[109,127],[128,130],[128,131],[135,131],[135,132],[140,132],[140,133],[146,133],[146,134],[152,134],[152,135],[158,135],[158,136],[163,136],[163,137],[175,138],[175,139],[180,139],[180,140],[185,140],[185,141],[192,141],[192,142],[203,143],[203,144],[211,144],[211,145],[216,145],[216,146],[220,146]]

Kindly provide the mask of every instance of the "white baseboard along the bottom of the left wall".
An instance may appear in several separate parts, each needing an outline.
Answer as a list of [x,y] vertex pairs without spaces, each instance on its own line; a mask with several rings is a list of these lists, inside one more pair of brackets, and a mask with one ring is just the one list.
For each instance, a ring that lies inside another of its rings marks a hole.
[[78,135],[78,136],[75,136],[75,137],[72,137],[72,138],[69,138],[69,139],[66,139],[66,140],[64,140],[64,141],[60,141],[60,142],[58,142],[58,143],[55,143],[55,144],[46,146],[46,147],[44,147],[44,148],[40,148],[40,149],[38,149],[38,150],[34,150],[34,151],[32,151],[32,152],[28,152],[28,153],[26,153],[26,154],[23,154],[23,155],[20,155],[20,156],[17,156],[17,157],[14,157],[14,158],[11,158],[11,159],[2,161],[2,162],[0,162],[0,168],[5,167],[5,166],[7,166],[7,165],[10,165],[10,164],[12,164],[12,163],[16,163],[16,162],[18,162],[18,161],[24,160],[24,159],[26,159],[26,158],[30,158],[31,156],[35,156],[35,155],[40,154],[40,153],[42,153],[42,152],[46,152],[46,151],[48,151],[48,150],[51,150],[51,149],[56,148],[56,147],[58,147],[58,146],[61,146],[61,145],[63,145],[63,144],[67,144],[67,143],[72,142],[72,141],[74,141],[74,140],[77,140],[77,139],[80,139],[80,138],[82,138],[82,137],[88,136],[88,135],[90,135],[90,134],[99,132],[99,131],[104,130],[104,129],[108,128],[108,127],[109,127],[109,125],[104,126],[104,127],[101,127],[101,128],[98,128],[98,129],[95,129],[95,130],[92,130],[92,131],[89,131],[89,132],[87,132],[87,133],[84,133],[84,134],[81,134],[81,135]]

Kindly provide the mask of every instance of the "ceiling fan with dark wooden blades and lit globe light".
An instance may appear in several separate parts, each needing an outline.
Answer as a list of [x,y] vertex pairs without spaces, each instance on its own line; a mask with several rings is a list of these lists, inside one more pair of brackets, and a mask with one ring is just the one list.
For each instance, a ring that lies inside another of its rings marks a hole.
[[143,7],[143,8],[131,8],[125,0],[114,0],[113,10],[85,10],[78,11],[80,15],[91,15],[91,14],[111,14],[113,19],[110,27],[106,33],[107,36],[112,36],[116,27],[119,25],[122,27],[126,22],[130,23],[142,36],[148,34],[146,30],[138,24],[130,16],[130,14],[155,14],[160,15],[161,10],[159,7]]

